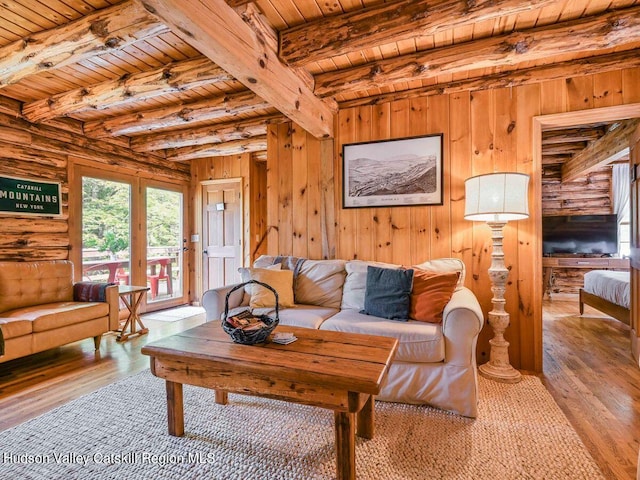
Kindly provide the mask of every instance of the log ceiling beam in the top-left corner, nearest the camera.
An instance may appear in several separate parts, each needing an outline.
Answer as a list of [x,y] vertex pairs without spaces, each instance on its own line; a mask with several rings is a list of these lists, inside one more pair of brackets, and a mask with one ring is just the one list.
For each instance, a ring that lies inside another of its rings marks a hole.
[[99,10],[0,48],[0,88],[167,31],[136,0]]

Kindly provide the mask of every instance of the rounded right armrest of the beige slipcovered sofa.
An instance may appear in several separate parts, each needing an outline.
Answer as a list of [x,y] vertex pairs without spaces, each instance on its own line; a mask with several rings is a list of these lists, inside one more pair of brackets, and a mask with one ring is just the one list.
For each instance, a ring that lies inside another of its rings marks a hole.
[[452,365],[476,364],[476,344],[484,325],[478,299],[466,287],[453,292],[442,315],[445,362]]

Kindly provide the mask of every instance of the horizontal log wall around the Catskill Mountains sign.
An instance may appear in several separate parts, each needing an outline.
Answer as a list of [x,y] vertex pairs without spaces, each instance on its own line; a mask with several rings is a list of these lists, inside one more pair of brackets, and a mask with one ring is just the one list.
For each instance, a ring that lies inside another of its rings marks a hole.
[[74,163],[173,184],[186,184],[190,179],[188,165],[142,156],[119,143],[88,139],[80,129],[35,125],[18,117],[18,111],[6,104],[0,108],[2,175],[60,182],[62,215],[0,215],[0,260],[70,259],[72,239],[78,237],[69,227],[70,216],[76,215],[69,210],[70,195],[75,193],[69,191]]

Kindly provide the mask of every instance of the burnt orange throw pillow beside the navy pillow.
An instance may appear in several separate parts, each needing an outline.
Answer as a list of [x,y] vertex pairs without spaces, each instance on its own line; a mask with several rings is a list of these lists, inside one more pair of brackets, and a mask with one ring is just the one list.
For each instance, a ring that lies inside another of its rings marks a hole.
[[460,272],[433,273],[414,267],[409,318],[440,323],[442,312],[456,289]]

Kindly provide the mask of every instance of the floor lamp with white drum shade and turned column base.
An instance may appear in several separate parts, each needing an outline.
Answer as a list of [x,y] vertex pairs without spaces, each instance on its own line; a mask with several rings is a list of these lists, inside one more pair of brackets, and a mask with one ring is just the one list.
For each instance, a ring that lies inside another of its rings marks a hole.
[[465,183],[466,220],[484,221],[491,227],[493,252],[491,254],[491,291],[493,310],[489,312],[489,325],[494,337],[489,341],[489,361],[480,365],[480,374],[504,383],[517,383],[522,379],[518,370],[509,363],[509,342],[504,331],[509,326],[509,314],[505,311],[504,292],[509,270],[504,266],[502,229],[509,220],[529,217],[529,175],[515,172],[489,173],[468,178]]

